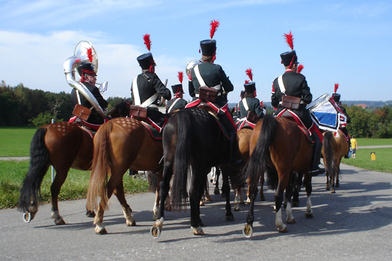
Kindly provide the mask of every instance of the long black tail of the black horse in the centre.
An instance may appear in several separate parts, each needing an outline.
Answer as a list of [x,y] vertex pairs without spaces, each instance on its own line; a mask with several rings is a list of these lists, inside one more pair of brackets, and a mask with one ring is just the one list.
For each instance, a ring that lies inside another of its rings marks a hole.
[[[185,112],[185,111],[184,111]],[[189,114],[177,113],[177,140],[174,162],[176,168],[173,173],[172,206],[181,211],[186,206],[188,172],[190,165],[191,122]]]

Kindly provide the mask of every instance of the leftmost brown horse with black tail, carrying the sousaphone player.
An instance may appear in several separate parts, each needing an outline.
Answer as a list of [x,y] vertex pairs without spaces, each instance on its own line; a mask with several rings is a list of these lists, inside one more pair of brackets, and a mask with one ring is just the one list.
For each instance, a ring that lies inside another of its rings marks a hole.
[[[123,102],[117,104],[108,115],[112,118],[129,113],[129,106]],[[20,188],[19,211],[23,220],[29,223],[38,212],[38,190],[43,176],[50,165],[56,171],[55,179],[50,185],[51,216],[56,225],[64,225],[59,215],[58,195],[66,180],[69,169],[88,171],[92,165],[92,133],[71,122],[55,122],[39,127],[30,144],[29,171]],[[90,213],[86,213],[90,216]]]

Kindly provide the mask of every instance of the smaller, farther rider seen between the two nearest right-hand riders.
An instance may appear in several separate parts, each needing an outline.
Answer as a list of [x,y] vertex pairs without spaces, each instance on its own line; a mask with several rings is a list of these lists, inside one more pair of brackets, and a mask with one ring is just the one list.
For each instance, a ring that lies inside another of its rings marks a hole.
[[239,118],[239,122],[237,122],[237,126],[238,129],[242,129],[244,127],[250,127],[253,129],[264,113],[260,106],[259,99],[255,98],[256,85],[253,82],[252,69],[247,69],[245,72],[251,81],[245,81],[244,99],[241,99],[238,103],[237,118]]

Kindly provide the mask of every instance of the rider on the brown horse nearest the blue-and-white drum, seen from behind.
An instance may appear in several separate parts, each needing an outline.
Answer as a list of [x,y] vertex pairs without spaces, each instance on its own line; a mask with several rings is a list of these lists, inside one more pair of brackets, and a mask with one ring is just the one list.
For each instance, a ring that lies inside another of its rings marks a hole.
[[283,75],[275,78],[272,83],[271,105],[274,106],[274,108],[277,108],[274,114],[278,115],[285,109],[281,106],[282,97],[284,95],[301,99],[300,107],[298,109],[291,108],[290,110],[300,118],[304,126],[311,132],[314,148],[310,172],[312,176],[317,176],[321,173],[318,164],[320,164],[321,148],[323,146],[321,142],[322,135],[316,124],[311,120],[311,115],[306,108],[306,105],[311,102],[312,95],[305,76],[301,73],[297,73],[298,62],[297,54],[295,53],[295,50],[293,50],[293,35],[290,31],[290,34],[285,34],[285,36],[291,50],[281,54],[281,63],[284,65],[286,71]]

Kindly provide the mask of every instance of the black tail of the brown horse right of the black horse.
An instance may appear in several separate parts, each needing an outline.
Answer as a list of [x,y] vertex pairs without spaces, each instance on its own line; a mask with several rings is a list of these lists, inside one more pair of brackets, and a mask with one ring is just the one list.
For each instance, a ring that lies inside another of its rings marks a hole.
[[253,153],[246,163],[243,173],[249,184],[258,184],[260,176],[264,175],[267,169],[269,156],[269,146],[275,139],[276,121],[274,116],[265,115],[262,118],[262,127],[258,136]]

